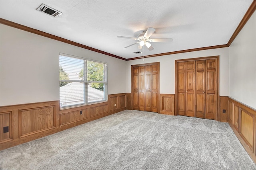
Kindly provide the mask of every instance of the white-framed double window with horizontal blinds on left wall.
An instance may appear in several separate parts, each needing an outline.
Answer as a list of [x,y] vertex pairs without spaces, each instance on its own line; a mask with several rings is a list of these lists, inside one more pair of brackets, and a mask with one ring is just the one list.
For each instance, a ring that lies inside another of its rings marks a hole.
[[60,55],[60,107],[106,101],[106,63]]

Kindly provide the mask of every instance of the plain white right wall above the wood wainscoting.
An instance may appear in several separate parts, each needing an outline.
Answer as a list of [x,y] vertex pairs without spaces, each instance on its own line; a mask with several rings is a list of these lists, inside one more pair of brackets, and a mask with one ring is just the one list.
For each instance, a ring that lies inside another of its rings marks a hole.
[[229,47],[229,96],[256,109],[256,12]]

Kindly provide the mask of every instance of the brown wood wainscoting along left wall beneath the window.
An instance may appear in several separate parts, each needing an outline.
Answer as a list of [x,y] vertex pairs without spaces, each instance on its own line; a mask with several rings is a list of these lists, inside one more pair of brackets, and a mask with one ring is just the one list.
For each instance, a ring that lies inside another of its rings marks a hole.
[[0,150],[14,147],[127,109],[127,94],[108,102],[60,110],[59,101],[0,107]]

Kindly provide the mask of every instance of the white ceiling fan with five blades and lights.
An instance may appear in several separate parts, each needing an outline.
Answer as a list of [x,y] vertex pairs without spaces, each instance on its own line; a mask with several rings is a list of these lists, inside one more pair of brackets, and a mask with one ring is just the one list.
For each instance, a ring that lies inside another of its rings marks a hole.
[[[134,40],[137,40],[139,42],[137,43],[134,43],[132,45],[135,45],[135,44],[139,44],[138,45],[138,49],[142,49],[142,47],[144,45],[146,45],[146,47],[148,48],[148,50],[153,50],[154,48],[152,47],[152,45],[149,43],[149,42],[171,42],[172,41],[172,38],[150,38],[150,36],[156,31],[156,29],[154,28],[151,28],[149,27],[147,29],[147,31],[143,31],[142,33],[140,33],[137,38],[134,38],[134,37],[123,37],[123,36],[117,36],[118,38],[127,38],[127,39],[134,39]],[[127,47],[130,47],[132,45],[128,45]],[[127,47],[124,47],[124,48],[127,48]]]

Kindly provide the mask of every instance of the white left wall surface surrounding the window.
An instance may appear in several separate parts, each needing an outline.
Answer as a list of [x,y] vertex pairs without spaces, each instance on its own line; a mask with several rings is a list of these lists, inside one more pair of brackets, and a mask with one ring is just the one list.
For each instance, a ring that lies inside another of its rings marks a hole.
[[59,100],[59,53],[108,63],[108,94],[126,92],[126,61],[0,24],[0,106]]

